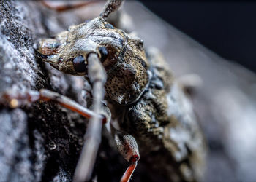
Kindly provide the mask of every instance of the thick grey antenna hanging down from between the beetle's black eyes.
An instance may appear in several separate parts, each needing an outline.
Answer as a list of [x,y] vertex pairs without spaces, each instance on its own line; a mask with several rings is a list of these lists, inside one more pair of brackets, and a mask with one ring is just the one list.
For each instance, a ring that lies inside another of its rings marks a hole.
[[[88,67],[89,79],[93,84],[93,111],[99,114],[102,110],[101,100],[103,100],[105,94],[104,85],[106,73],[100,63],[98,55],[95,53],[89,54]],[[75,169],[74,182],[88,181],[91,178],[99,143],[101,141],[101,131],[102,122],[100,118],[97,115],[92,116],[86,129],[86,135],[84,136],[84,145],[78,160],[78,165]]]

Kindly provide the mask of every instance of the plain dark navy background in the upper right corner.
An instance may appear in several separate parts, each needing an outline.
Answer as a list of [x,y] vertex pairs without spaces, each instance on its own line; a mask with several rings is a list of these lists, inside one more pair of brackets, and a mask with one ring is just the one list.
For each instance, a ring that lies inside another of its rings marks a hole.
[[256,2],[141,1],[222,58],[256,72]]

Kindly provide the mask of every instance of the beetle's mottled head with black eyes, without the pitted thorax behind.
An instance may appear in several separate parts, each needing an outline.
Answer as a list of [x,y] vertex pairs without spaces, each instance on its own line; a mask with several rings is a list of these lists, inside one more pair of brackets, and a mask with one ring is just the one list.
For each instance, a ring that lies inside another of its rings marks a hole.
[[87,57],[97,53],[108,70],[123,47],[124,36],[101,17],[69,27],[54,39],[41,39],[38,57],[66,74],[87,74]]

